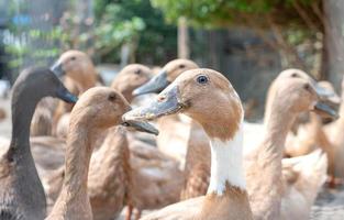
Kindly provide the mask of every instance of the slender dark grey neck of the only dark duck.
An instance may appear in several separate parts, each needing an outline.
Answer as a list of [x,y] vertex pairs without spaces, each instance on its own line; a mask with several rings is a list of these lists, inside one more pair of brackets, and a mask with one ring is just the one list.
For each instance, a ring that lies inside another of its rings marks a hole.
[[30,124],[40,99],[31,92],[13,91],[12,95],[12,138],[9,156],[30,155]]

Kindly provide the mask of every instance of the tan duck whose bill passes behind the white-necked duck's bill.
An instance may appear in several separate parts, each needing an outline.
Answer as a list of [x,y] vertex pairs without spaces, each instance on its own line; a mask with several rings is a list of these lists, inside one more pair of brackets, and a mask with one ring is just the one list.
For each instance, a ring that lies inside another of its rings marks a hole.
[[88,173],[93,145],[99,133],[111,127],[123,124],[157,134],[157,130],[146,122],[126,121],[123,123],[121,117],[130,109],[125,98],[111,88],[95,87],[80,96],[70,113],[62,191],[47,220],[92,219],[88,197]]

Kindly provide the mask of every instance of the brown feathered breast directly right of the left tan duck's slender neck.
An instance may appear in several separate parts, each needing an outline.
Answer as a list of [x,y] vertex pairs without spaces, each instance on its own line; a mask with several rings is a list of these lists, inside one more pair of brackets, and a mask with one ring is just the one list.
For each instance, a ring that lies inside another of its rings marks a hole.
[[90,164],[88,195],[93,219],[116,218],[126,204],[133,204],[130,151],[122,127],[110,129]]

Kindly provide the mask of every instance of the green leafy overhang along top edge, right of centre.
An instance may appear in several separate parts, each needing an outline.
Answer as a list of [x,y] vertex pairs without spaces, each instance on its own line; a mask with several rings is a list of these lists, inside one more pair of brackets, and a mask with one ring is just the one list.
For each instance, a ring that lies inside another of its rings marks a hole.
[[[289,24],[300,21],[292,7],[298,2],[307,11],[310,4],[320,0],[152,0],[155,8],[160,9],[168,22],[176,23],[179,16],[186,16],[193,26],[225,26],[246,24],[246,19],[266,25],[264,16],[273,14],[276,21]],[[244,19],[243,19],[244,18]],[[263,20],[263,21],[262,21]]]

